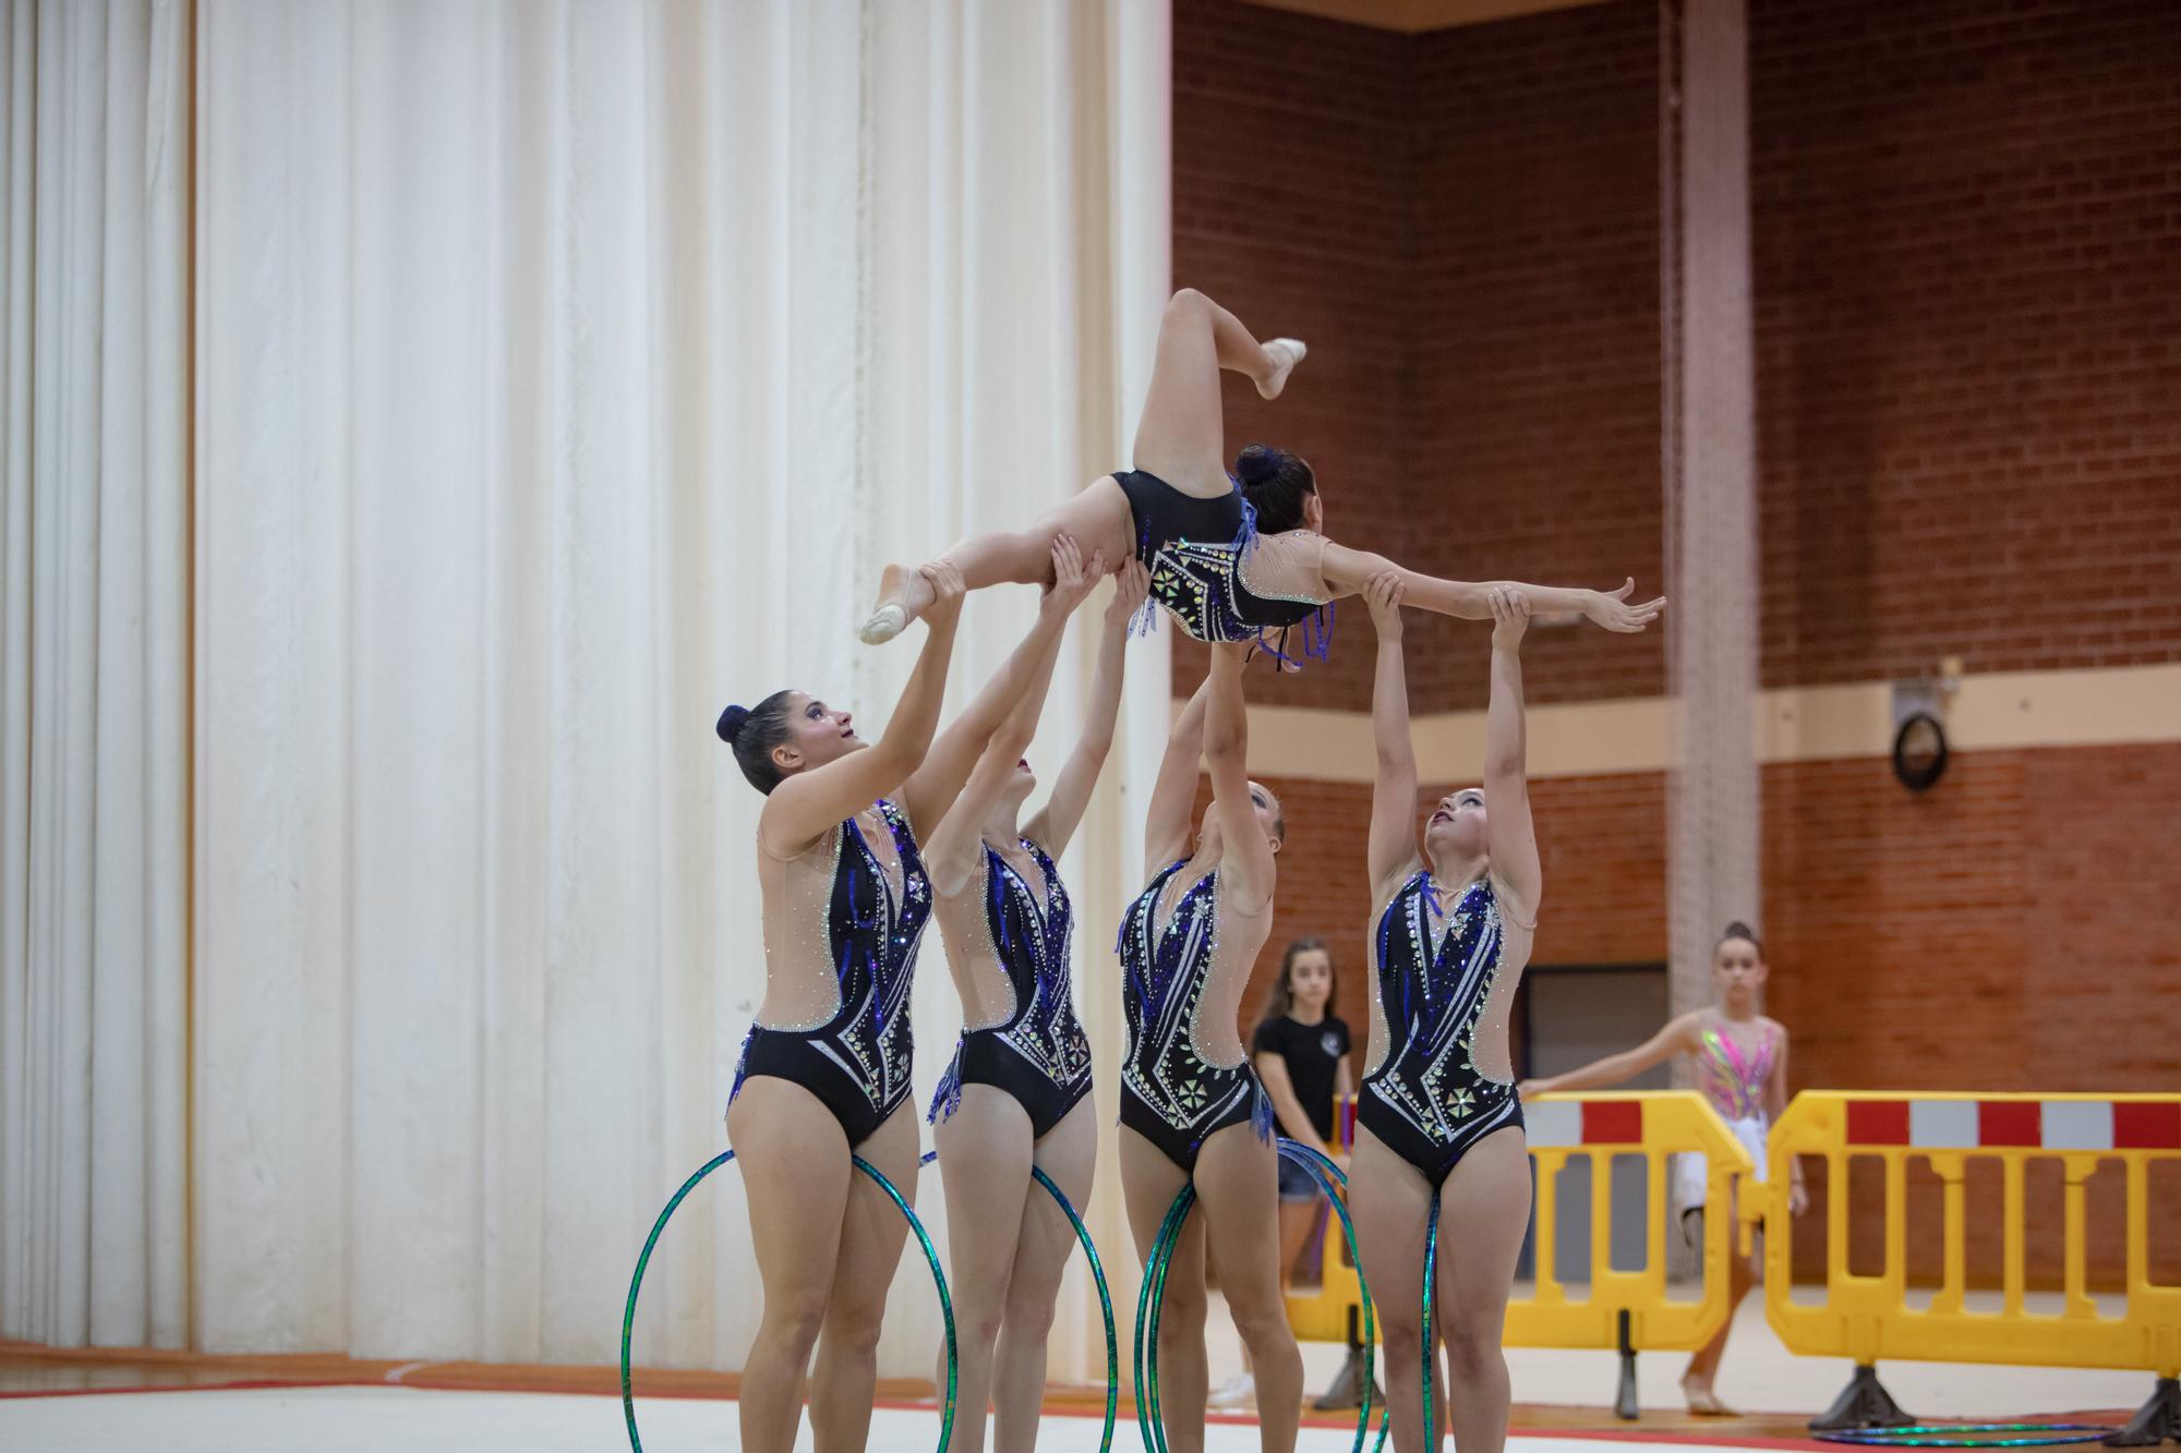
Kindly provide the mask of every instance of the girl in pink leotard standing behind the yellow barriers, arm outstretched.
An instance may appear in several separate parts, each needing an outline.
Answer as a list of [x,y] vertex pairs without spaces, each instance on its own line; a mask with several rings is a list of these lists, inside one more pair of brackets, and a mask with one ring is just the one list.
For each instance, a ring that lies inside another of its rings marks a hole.
[[[1675,1054],[1686,1054],[1697,1078],[1697,1089],[1712,1102],[1712,1108],[1727,1121],[1734,1137],[1749,1150],[1758,1165],[1758,1180],[1764,1180],[1764,1132],[1786,1108],[1786,1030],[1778,1019],[1758,1012],[1758,997],[1764,990],[1764,945],[1745,923],[1730,923],[1727,932],[1712,949],[1712,984],[1719,1004],[1708,1010],[1692,1010],[1671,1019],[1666,1028],[1634,1049],[1623,1049],[1581,1069],[1542,1080],[1525,1080],[1522,1095],[1546,1095],[1551,1091],[1607,1089],[1620,1084],[1653,1065],[1662,1065]],[[1706,1196],[1703,1156],[1677,1156],[1673,1167],[1675,1196],[1682,1202],[1682,1230],[1701,1244],[1701,1217]],[[1802,1165],[1788,1187],[1788,1211],[1802,1215],[1806,1193],[1802,1187]],[[1732,1416],[1712,1390],[1719,1377],[1719,1357],[1727,1350],[1727,1331],[1734,1326],[1732,1309],[1758,1285],[1758,1268],[1747,1257],[1736,1254],[1727,1281],[1727,1320],[1719,1333],[1697,1348],[1682,1374],[1682,1394],[1688,1412],[1701,1416]]]

